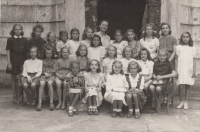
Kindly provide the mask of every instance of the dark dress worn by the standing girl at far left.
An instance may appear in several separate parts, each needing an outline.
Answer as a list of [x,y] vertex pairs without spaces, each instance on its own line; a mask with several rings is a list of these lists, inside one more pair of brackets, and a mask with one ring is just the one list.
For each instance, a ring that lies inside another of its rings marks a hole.
[[10,50],[11,74],[18,75],[22,72],[22,65],[26,58],[28,41],[26,38],[10,37],[7,40],[6,50]]

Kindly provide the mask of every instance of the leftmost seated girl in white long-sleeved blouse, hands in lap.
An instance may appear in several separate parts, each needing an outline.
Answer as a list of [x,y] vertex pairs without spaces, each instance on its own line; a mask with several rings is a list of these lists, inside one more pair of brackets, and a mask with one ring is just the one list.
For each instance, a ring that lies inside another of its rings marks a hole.
[[[30,48],[30,59],[24,62],[22,84],[27,97],[27,106],[35,105],[35,92],[38,79],[42,74],[42,61],[37,59],[38,48]],[[29,84],[31,88],[29,89]]]

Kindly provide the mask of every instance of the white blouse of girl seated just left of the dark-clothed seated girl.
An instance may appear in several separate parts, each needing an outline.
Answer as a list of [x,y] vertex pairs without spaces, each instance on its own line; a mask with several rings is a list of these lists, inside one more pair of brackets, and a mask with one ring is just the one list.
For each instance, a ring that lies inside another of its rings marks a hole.
[[144,62],[143,60],[138,60],[137,62],[142,68],[140,74],[149,75],[153,73],[153,65],[154,65],[153,61],[147,60],[146,62]]

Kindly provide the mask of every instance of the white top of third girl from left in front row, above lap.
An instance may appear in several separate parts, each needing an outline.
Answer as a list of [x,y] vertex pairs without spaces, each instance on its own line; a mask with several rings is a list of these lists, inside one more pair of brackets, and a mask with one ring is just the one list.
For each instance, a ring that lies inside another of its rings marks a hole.
[[126,81],[125,75],[113,74],[107,76],[106,91],[111,91],[112,89],[123,88],[127,89],[129,87]]

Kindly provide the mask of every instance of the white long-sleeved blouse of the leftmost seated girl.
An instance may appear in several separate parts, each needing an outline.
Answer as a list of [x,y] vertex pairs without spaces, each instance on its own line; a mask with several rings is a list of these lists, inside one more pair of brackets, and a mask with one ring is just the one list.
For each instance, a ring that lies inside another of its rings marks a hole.
[[39,77],[42,74],[42,60],[29,59],[24,62],[22,75],[28,77],[28,73],[37,73],[35,76]]

